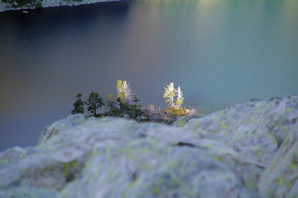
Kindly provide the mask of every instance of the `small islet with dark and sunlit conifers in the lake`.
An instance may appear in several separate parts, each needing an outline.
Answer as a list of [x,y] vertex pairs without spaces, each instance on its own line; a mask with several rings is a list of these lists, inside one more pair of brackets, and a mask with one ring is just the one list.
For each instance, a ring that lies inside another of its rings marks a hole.
[[[192,115],[193,117],[203,117],[204,114],[199,114],[195,109],[187,109],[182,107],[184,98],[180,86],[174,88],[174,83],[170,82],[163,98],[167,98],[165,102],[169,103],[169,107],[165,109],[155,110],[154,105],[142,107],[140,100],[136,93],[132,93],[130,84],[126,80],[118,80],[116,85],[117,99],[112,94],[108,94],[105,99],[100,97],[97,92],[91,92],[88,99],[83,101],[82,94],[78,93],[76,101],[74,102],[74,110],[72,114],[83,114],[85,112],[84,105],[87,106],[87,111],[90,117],[121,117],[126,119],[133,119],[137,122],[158,122],[172,125],[178,118],[185,115]],[[176,102],[174,97],[177,96]],[[105,109],[104,113],[97,114],[96,110],[99,108]]]

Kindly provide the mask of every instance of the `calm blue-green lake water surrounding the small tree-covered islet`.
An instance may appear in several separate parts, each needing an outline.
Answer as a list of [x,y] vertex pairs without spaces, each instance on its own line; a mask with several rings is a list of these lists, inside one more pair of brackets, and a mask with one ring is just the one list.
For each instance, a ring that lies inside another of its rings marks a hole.
[[127,80],[143,106],[164,87],[212,112],[298,94],[297,0],[130,0],[0,13],[0,150],[37,143],[75,95],[116,95]]

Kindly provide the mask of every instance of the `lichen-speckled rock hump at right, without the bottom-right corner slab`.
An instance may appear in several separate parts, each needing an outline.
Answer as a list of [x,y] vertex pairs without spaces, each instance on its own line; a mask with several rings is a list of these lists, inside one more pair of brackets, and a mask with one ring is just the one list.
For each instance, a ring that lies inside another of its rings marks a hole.
[[289,131],[296,131],[298,97],[252,100],[207,117],[190,120],[183,129],[232,141],[239,154],[267,166]]

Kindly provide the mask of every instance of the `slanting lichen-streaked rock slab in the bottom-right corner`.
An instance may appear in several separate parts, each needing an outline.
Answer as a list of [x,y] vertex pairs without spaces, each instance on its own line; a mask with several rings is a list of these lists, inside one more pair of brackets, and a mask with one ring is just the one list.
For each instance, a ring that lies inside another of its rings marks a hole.
[[289,126],[281,129],[287,134],[258,182],[262,197],[298,197],[298,122],[294,125],[294,131]]

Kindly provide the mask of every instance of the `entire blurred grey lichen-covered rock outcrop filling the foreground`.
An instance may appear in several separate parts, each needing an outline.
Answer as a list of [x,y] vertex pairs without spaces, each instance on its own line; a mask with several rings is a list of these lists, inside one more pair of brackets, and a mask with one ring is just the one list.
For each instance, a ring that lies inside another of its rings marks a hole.
[[74,115],[0,153],[0,198],[297,198],[298,96],[172,127]]

